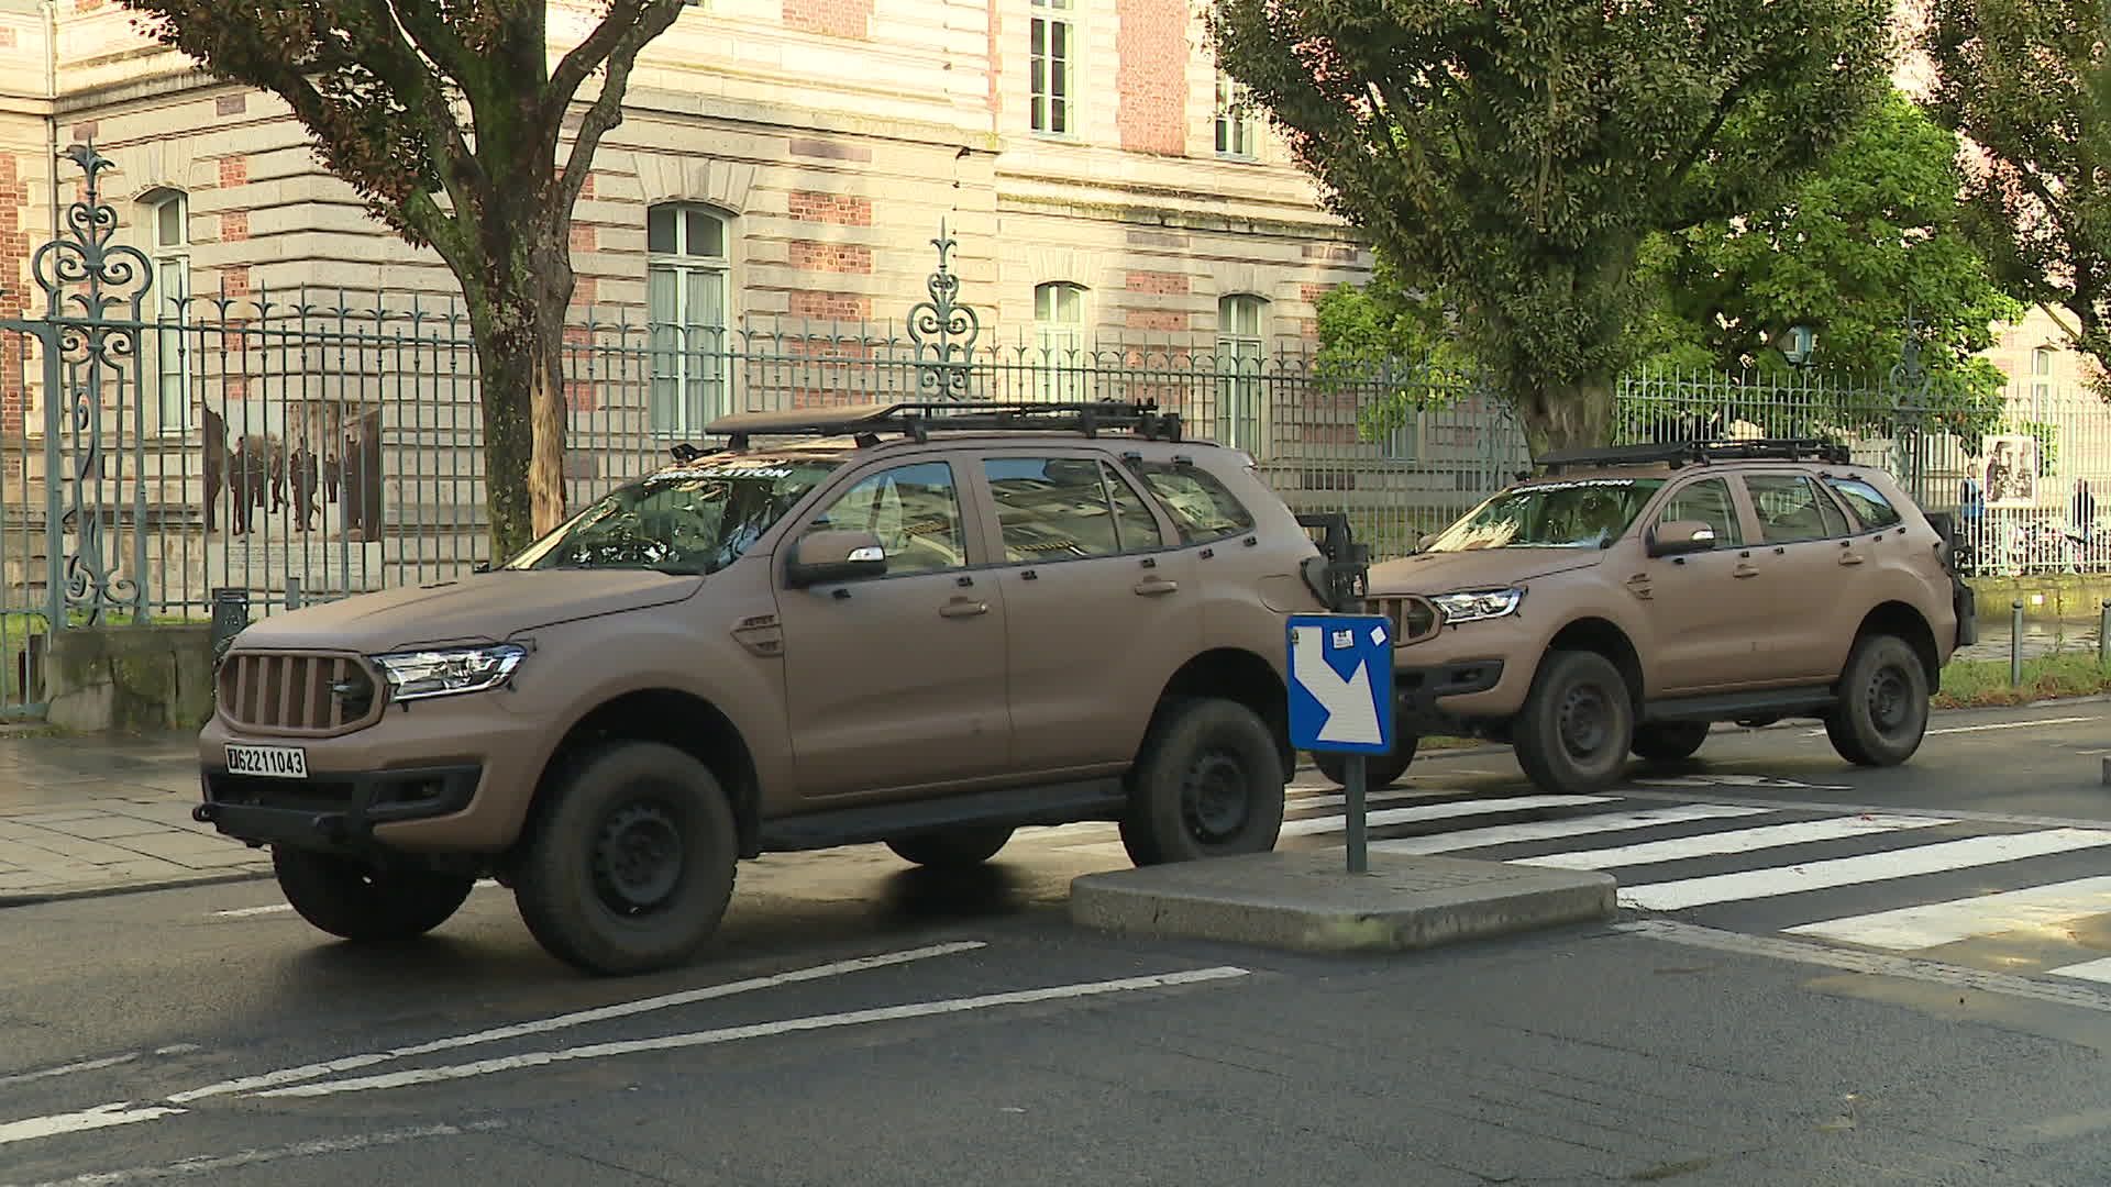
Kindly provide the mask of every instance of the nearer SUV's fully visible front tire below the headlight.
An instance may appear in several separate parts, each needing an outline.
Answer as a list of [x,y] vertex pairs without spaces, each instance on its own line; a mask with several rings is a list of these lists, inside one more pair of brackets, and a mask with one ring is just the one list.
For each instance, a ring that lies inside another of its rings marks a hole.
[[612,741],[543,788],[513,902],[549,955],[631,976],[703,948],[737,862],[733,807],[709,767],[657,741]]

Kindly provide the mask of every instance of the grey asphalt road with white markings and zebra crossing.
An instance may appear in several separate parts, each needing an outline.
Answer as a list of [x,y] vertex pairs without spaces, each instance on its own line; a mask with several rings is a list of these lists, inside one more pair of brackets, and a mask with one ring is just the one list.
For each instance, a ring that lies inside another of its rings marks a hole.
[[[1096,828],[958,879],[768,858],[707,959],[623,982],[498,889],[369,950],[268,883],[15,908],[0,1183],[2111,1181],[2111,984],[2056,972],[2111,955],[2111,705],[1936,729],[1537,807],[1507,754],[1421,762],[1378,843],[1699,902],[1395,959],[1077,931]],[[1286,847],[1336,815],[1307,777]]]

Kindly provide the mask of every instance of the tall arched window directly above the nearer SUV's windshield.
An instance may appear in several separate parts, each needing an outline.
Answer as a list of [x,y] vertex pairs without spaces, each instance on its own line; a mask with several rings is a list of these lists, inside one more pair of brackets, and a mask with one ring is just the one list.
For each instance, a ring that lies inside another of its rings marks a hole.
[[646,211],[654,433],[697,433],[726,412],[726,218],[707,207]]

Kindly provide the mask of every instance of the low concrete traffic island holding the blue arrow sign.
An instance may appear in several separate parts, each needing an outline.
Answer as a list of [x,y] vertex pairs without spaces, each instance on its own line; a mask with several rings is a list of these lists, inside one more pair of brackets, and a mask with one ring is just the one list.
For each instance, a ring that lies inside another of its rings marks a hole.
[[1123,936],[1226,940],[1302,953],[1412,950],[1611,919],[1615,881],[1552,870],[1340,849],[1172,862],[1083,874],[1070,921]]

